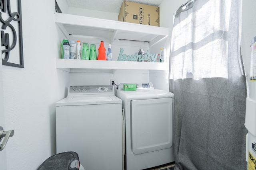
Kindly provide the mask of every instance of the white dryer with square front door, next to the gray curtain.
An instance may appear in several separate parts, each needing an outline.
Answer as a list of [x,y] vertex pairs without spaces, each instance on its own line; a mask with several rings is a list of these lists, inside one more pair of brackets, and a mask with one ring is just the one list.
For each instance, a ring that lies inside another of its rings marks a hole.
[[[124,91],[129,84],[136,84],[136,91]],[[154,89],[151,82],[135,82],[119,84],[116,96],[125,115],[126,170],[173,162],[174,94]]]

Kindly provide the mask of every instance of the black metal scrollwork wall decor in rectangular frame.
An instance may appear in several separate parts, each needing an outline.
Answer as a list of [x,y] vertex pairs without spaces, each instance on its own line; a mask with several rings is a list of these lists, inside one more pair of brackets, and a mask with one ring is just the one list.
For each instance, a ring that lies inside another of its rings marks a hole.
[[[21,0],[17,0],[17,3],[16,3],[18,12],[11,11],[10,1],[14,1],[14,0],[0,0],[0,22],[2,24],[2,27],[1,27],[2,64],[7,66],[24,68],[23,44],[22,44]],[[6,20],[4,20],[5,18],[3,16],[7,16],[5,17]],[[9,35],[9,33],[12,35]],[[12,39],[10,39],[10,37]],[[18,40],[17,40],[17,37],[18,37]],[[15,53],[13,53],[14,55],[12,55],[11,52],[14,50],[19,51],[18,57],[15,55]],[[10,57],[18,58],[17,60],[18,62],[14,63],[12,62],[13,60],[8,62]]]

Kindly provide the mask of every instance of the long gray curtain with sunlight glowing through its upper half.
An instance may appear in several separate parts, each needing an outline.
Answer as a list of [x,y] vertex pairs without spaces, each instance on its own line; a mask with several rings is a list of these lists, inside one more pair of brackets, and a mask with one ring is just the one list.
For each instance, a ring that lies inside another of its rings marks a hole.
[[170,53],[175,170],[245,170],[242,0],[191,0],[175,14]]

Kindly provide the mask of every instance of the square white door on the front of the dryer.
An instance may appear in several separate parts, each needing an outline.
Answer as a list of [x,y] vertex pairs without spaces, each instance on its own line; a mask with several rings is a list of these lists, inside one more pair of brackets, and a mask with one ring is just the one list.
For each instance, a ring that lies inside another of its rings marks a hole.
[[142,154],[172,146],[172,98],[133,100],[132,151]]

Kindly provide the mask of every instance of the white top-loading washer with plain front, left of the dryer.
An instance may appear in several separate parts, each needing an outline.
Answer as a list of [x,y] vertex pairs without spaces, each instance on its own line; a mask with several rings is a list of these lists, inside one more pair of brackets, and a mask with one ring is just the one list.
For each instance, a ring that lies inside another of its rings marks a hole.
[[113,86],[70,86],[56,102],[57,153],[74,151],[86,170],[122,170],[122,100]]

